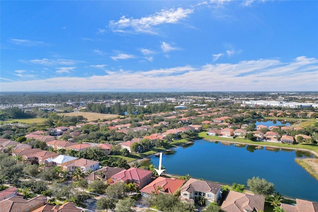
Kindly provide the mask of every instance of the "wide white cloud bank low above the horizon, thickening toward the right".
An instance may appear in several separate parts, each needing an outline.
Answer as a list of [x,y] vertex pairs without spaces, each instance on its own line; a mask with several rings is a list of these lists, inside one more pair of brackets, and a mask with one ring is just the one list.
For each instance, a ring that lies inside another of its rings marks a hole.
[[[1,82],[1,91],[316,91],[318,59],[297,57],[181,66],[150,71],[107,71],[104,76]],[[221,80],[220,80],[221,79]],[[213,82],[213,83],[211,83]]]

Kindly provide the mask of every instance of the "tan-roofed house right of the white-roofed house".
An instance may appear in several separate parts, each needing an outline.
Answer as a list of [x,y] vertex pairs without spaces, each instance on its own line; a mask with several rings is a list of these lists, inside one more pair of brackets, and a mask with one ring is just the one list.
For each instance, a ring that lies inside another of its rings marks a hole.
[[72,173],[78,167],[82,172],[87,172],[88,170],[96,171],[99,169],[99,162],[81,158],[64,165],[63,170],[68,170]]

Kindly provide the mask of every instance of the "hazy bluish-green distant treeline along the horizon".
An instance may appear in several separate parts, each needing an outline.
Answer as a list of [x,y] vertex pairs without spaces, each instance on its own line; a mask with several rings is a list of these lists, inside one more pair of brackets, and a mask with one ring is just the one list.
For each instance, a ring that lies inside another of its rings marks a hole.
[[[302,92],[304,95],[311,95],[314,92]],[[277,97],[280,94],[276,95]],[[301,93],[299,93],[301,95]],[[177,98],[183,96],[195,97],[242,97],[259,98],[270,95],[269,92],[1,92],[0,104],[31,104],[31,103],[51,103],[61,104],[70,101],[107,101],[107,100],[125,100],[134,99],[149,100],[155,98]]]

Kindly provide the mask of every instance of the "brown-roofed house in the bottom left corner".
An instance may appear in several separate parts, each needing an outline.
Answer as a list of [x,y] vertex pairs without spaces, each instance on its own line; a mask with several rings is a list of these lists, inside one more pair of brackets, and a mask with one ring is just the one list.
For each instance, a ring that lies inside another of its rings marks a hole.
[[30,200],[16,195],[0,202],[0,212],[33,212],[44,206],[45,202],[46,197],[41,195]]

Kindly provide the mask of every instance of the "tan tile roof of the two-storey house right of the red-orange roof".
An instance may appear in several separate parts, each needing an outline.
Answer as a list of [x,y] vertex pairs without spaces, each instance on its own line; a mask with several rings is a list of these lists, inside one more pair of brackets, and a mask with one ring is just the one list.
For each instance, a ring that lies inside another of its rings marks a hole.
[[212,183],[209,181],[197,180],[190,178],[180,189],[180,191],[187,191],[189,193],[197,191],[197,192],[212,192],[213,194],[217,194],[221,185],[218,183]]

